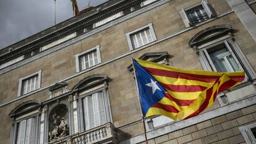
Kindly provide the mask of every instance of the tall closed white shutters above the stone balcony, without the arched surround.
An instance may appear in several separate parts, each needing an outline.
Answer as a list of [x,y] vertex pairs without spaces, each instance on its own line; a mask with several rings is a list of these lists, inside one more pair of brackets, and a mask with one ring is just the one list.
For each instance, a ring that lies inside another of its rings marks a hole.
[[85,130],[106,124],[105,98],[102,91],[83,98],[83,121]]

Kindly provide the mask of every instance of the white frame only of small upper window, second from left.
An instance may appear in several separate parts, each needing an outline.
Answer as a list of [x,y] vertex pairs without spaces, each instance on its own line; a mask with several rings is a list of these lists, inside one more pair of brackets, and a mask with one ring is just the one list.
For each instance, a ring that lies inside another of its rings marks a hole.
[[[95,51],[95,50],[96,50],[96,54],[97,54],[98,64],[100,64],[101,63],[100,45],[97,45],[94,48],[88,49],[87,51],[84,51],[83,53],[75,54],[75,69],[77,72],[82,71],[80,69],[80,57],[87,53]],[[94,66],[96,66],[98,64],[95,64]],[[94,66],[91,66],[91,67],[94,67]],[[87,69],[90,69],[91,67],[88,67]],[[86,70],[86,69],[84,69],[84,70]]]

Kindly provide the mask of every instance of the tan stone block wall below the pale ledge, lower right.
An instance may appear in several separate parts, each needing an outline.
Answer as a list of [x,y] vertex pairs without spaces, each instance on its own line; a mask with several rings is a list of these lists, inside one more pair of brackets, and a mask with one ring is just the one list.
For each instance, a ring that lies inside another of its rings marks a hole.
[[[256,105],[148,140],[149,144],[236,144],[244,143],[239,127],[256,121]],[[145,142],[143,142],[145,144]]]

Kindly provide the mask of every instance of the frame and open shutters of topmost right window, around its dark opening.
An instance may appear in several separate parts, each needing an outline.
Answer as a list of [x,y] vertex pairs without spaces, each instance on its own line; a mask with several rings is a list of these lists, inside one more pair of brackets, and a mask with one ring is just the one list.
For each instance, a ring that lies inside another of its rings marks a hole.
[[[191,9],[195,9],[195,7],[198,7],[198,6],[203,7],[203,9],[205,10],[205,13],[208,15],[208,19],[211,19],[212,17],[214,17],[216,15],[215,11],[211,7],[211,5],[208,3],[208,0],[202,0],[201,2],[199,2],[197,4],[194,4],[192,6],[181,9],[180,11],[178,11],[178,13],[181,15],[181,19],[183,20],[184,25],[186,26],[186,28],[198,24],[198,23],[193,24],[191,22],[191,20],[189,19],[189,15],[187,14],[187,11],[189,11]],[[206,20],[208,20],[208,19],[206,19]],[[202,22],[205,22],[206,20],[203,20]],[[199,22],[199,23],[202,23],[202,22]]]

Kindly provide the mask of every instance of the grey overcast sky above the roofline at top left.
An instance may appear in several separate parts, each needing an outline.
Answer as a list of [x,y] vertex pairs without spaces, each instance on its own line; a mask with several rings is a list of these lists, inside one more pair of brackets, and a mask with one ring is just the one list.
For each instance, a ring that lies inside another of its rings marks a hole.
[[[89,0],[77,0],[79,10]],[[108,0],[91,0],[98,6]],[[0,49],[53,26],[54,0],[0,0]],[[56,22],[73,16],[70,0],[56,0]]]

